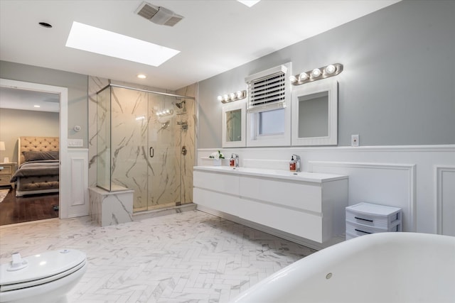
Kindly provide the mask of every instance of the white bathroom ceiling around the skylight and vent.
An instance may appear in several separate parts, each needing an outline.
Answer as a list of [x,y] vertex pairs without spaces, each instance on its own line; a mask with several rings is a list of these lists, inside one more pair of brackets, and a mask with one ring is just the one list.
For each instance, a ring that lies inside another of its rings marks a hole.
[[[141,0],[0,0],[0,60],[176,90],[397,1],[262,0],[248,8],[235,0],[148,0],[184,17],[169,27],[137,16]],[[152,67],[66,48],[73,21],[181,53]]]

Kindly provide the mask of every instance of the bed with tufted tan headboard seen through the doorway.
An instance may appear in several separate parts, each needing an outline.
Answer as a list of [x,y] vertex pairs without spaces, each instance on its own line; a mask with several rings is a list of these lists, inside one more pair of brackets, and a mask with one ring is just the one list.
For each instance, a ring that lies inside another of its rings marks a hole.
[[58,192],[58,148],[58,137],[18,138],[18,170],[11,179],[16,197]]

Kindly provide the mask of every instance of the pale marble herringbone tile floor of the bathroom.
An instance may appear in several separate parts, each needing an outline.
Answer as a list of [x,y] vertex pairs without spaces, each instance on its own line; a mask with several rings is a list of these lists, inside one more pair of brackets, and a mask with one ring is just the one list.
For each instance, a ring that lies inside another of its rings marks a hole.
[[87,253],[69,302],[229,302],[314,252],[220,219],[185,211],[99,227],[89,217],[0,228],[0,262],[60,248]]

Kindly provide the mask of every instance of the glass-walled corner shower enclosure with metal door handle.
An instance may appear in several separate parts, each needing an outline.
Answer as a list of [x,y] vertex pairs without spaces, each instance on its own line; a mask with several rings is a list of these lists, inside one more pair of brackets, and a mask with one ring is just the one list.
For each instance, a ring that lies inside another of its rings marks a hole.
[[133,211],[192,202],[195,99],[109,84],[97,92],[97,187]]

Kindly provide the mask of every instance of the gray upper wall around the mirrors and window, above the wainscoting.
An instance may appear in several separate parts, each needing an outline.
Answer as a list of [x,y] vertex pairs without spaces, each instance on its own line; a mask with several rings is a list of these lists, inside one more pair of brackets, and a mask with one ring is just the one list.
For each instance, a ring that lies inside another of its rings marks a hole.
[[292,74],[330,63],[338,80],[338,145],[455,143],[455,1],[401,1],[199,83],[198,148],[221,146],[219,94],[285,62]]

